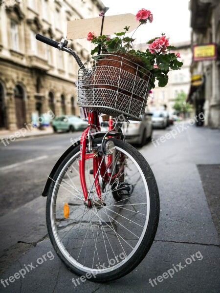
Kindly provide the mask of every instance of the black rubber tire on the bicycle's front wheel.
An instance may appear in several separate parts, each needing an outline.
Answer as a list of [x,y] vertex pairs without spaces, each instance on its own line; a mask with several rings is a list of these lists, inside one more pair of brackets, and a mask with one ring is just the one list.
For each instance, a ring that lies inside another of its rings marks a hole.
[[[150,195],[149,221],[148,221],[146,230],[144,232],[142,241],[140,242],[139,246],[135,250],[134,254],[127,260],[127,262],[122,264],[116,270],[112,270],[110,272],[103,272],[103,273],[98,272],[97,274],[92,276],[90,273],[89,280],[93,282],[108,282],[108,281],[119,279],[123,277],[124,275],[128,274],[129,272],[131,272],[135,267],[137,267],[138,264],[146,256],[146,254],[148,253],[148,251],[150,250],[153,244],[157,226],[158,226],[158,221],[159,221],[159,193],[158,193],[158,188],[154,178],[154,174],[149,164],[147,163],[145,158],[133,146],[120,140],[116,140],[116,139],[111,139],[111,140],[115,143],[115,146],[120,147],[121,149],[129,153],[130,156],[132,156],[132,158],[135,158],[135,162],[138,164],[138,166],[142,170],[142,173],[143,173],[142,176],[145,179],[145,182],[147,183],[149,195]],[[99,144],[101,143],[101,141],[102,139],[94,139],[93,143]],[[66,257],[60,251],[53,234],[52,225],[51,225],[51,216],[50,216],[51,199],[52,199],[53,189],[55,187],[55,182],[58,180],[58,176],[63,170],[63,168],[66,166],[66,164],[74,155],[79,153],[79,150],[80,150],[80,146],[76,146],[66,156],[63,162],[57,168],[57,171],[53,178],[54,181],[49,188],[49,192],[47,196],[46,223],[47,223],[47,229],[48,229],[49,237],[53,245],[53,248],[56,251],[57,255],[60,257],[60,259],[63,261],[63,263],[67,266],[67,268],[71,272],[74,272],[77,275],[86,275],[85,271],[79,268],[76,268],[69,261],[67,261]],[[54,190],[54,192],[55,191],[56,190]],[[53,202],[52,202],[52,205],[53,205]]]

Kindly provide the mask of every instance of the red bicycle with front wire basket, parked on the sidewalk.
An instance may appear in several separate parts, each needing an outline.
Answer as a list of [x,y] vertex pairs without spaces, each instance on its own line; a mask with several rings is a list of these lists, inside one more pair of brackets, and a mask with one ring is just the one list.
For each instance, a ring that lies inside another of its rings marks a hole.
[[[96,282],[118,279],[143,260],[154,241],[159,220],[154,174],[145,158],[124,141],[118,118],[113,120],[122,112],[103,105],[106,95],[115,93],[94,86],[95,67],[86,68],[65,39],[59,43],[39,34],[36,39],[75,58],[80,67],[78,101],[82,116],[88,115],[81,141],[61,156],[44,188],[51,243],[70,271]],[[102,72],[101,67],[96,70]],[[120,95],[124,93],[117,91]],[[113,115],[107,132],[101,131],[99,112]],[[124,112],[124,117],[135,115]]]

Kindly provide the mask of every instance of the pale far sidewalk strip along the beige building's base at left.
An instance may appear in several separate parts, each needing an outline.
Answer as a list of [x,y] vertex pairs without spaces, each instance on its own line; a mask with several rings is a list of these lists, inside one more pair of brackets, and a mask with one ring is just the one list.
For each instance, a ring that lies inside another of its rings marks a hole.
[[46,126],[42,130],[40,130],[38,127],[33,127],[32,129],[29,128],[21,128],[15,131],[10,131],[10,130],[0,130],[0,140],[7,140],[9,141],[14,141],[15,139],[21,139],[21,138],[30,138],[32,136],[43,136],[43,135],[49,135],[53,134],[53,128],[51,126]]

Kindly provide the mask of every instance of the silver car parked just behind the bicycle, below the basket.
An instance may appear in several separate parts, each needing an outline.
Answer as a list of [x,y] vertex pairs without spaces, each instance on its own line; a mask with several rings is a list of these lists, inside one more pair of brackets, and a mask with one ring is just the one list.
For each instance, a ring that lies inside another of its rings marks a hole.
[[147,140],[151,140],[153,126],[152,126],[152,113],[144,113],[141,121],[130,121],[129,127],[124,122],[122,126],[125,141],[129,144],[137,144],[144,146]]

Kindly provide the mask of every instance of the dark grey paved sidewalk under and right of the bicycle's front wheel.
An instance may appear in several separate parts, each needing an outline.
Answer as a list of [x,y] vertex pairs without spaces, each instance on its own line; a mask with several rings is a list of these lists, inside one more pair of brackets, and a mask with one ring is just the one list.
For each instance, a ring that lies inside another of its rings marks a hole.
[[[155,131],[154,139],[171,129]],[[17,258],[10,249],[5,252],[5,259],[13,261],[0,276],[5,285],[0,284],[1,292],[60,293],[65,288],[66,293],[219,293],[219,237],[203,186],[209,193],[213,191],[198,171],[198,165],[204,165],[203,174],[212,176],[215,172],[214,165],[220,164],[219,141],[219,130],[192,126],[160,146],[149,143],[140,149],[154,171],[159,188],[159,226],[154,244],[141,264],[114,282],[101,284],[87,280],[74,285],[72,278],[76,280],[78,276],[68,271],[48,237],[44,237],[45,198],[38,197],[1,217],[2,245],[8,247],[18,241],[23,246],[20,251],[24,246],[29,248]],[[32,207],[36,208],[35,213]],[[25,224],[28,212],[33,220]],[[16,234],[13,220],[17,225],[25,224],[22,235]],[[192,261],[195,254],[200,257]],[[43,259],[43,255],[46,260],[38,265],[37,259]],[[181,269],[175,272],[174,266],[177,268],[180,263]],[[33,265],[30,272],[24,270],[28,265]],[[161,276],[168,270],[173,270],[172,277],[163,279]],[[20,271],[23,277],[15,279],[13,276]],[[149,280],[155,280],[156,284]]]

